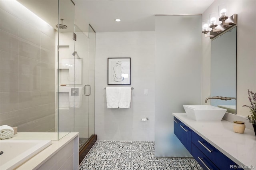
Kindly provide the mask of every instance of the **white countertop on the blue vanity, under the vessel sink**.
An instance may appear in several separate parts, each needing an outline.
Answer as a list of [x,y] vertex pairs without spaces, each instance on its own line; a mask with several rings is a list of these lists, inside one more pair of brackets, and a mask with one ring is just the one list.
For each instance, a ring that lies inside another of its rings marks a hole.
[[233,131],[233,123],[225,121],[194,121],[186,113],[172,113],[186,126],[216,147],[244,169],[256,169],[256,136],[253,130]]

